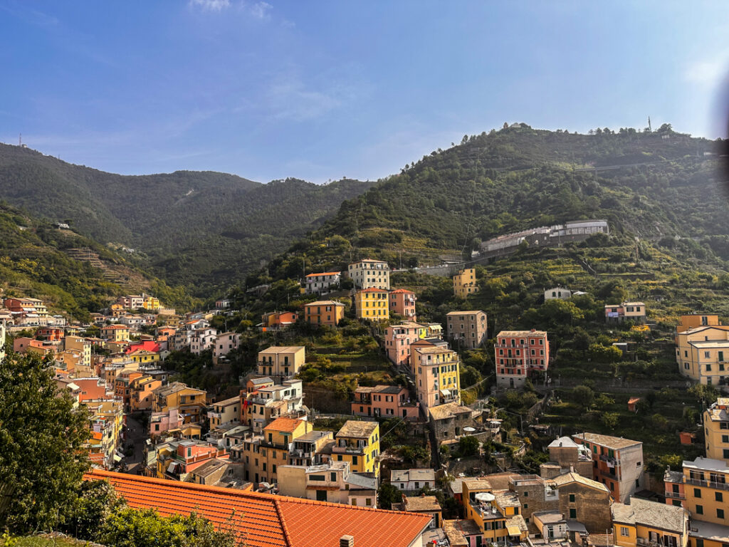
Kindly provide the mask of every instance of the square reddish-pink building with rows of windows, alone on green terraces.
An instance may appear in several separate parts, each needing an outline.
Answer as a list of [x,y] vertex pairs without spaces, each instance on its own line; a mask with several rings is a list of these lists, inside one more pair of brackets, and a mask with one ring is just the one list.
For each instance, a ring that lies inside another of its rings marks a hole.
[[502,330],[494,353],[499,387],[523,387],[528,376],[549,368],[549,341],[543,330]]

